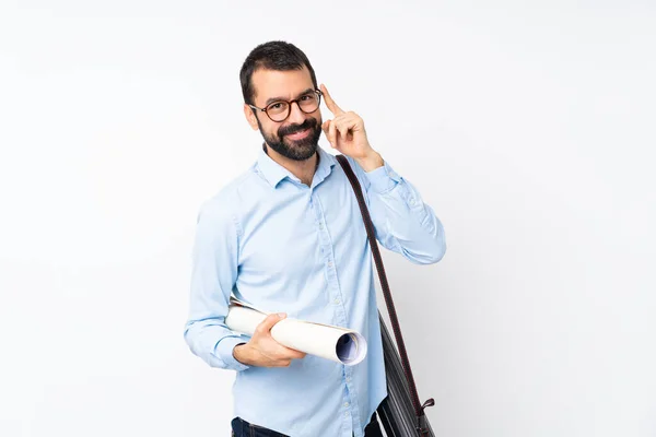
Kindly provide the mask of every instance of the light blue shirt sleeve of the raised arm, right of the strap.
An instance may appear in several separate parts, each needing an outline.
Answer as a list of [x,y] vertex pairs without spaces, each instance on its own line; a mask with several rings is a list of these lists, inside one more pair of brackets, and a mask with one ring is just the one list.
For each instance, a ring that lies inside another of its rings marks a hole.
[[363,187],[378,243],[415,264],[440,261],[446,251],[444,226],[419,190],[387,161],[372,172],[349,162]]

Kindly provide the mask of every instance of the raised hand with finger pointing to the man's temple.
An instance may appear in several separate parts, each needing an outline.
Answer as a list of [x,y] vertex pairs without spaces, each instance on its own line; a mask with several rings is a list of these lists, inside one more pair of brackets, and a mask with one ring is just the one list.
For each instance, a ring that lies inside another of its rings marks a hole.
[[372,149],[364,130],[364,121],[353,111],[344,111],[340,108],[326,85],[320,85],[326,106],[335,118],[326,120],[321,129],[333,149],[356,161],[371,158],[376,152]]

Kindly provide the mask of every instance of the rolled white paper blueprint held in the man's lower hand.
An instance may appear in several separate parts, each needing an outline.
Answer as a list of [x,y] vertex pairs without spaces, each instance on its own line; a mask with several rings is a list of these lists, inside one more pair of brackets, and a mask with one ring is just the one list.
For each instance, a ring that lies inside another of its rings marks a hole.
[[[235,298],[231,298],[225,324],[233,331],[253,335],[268,316]],[[354,366],[366,356],[366,340],[351,329],[285,318],[271,328],[271,336],[283,346]]]

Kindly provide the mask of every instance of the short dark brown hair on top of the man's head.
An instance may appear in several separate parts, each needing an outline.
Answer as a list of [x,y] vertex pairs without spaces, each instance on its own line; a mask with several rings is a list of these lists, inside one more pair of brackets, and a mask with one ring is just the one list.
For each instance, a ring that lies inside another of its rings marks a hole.
[[309,75],[312,76],[312,83],[314,87],[317,87],[317,78],[315,76],[314,69],[312,68],[307,56],[291,43],[282,40],[274,40],[263,43],[254,48],[242,66],[239,71],[239,81],[242,82],[242,94],[244,94],[244,102],[246,104],[253,104],[255,96],[255,90],[253,88],[253,73],[260,69],[276,70],[276,71],[290,71],[290,70],[303,70],[303,67],[307,67]]

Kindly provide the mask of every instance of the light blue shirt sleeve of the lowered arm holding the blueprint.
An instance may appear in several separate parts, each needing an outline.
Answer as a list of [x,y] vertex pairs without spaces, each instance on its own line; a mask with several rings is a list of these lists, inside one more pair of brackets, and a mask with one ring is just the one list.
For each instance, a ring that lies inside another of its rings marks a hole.
[[245,370],[233,349],[248,336],[225,326],[230,295],[237,277],[238,222],[216,198],[198,214],[191,256],[191,290],[185,341],[212,367]]

